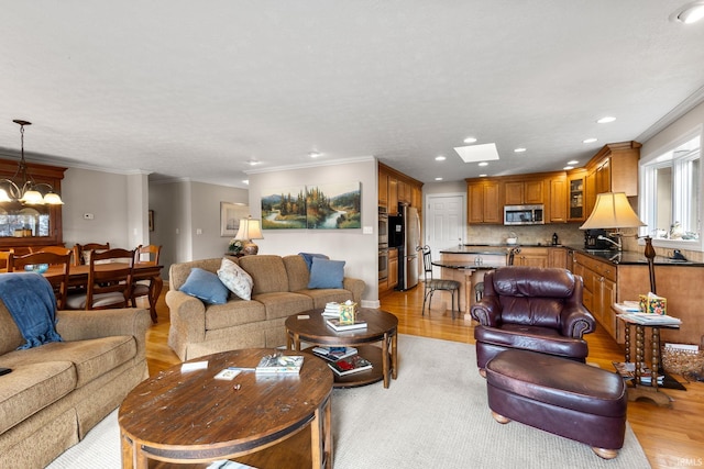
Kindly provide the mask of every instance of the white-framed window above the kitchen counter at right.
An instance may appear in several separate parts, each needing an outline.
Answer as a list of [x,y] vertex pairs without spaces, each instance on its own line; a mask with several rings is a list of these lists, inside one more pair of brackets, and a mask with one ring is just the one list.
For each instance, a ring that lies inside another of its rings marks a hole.
[[660,247],[704,250],[701,130],[640,163],[641,236]]

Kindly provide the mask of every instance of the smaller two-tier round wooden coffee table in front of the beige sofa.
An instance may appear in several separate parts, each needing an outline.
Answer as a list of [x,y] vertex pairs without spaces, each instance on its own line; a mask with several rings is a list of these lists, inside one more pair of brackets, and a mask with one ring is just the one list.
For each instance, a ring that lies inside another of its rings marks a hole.
[[[366,322],[366,328],[336,332],[326,325],[322,310],[310,310],[294,314],[286,320],[288,348],[300,350],[300,343],[324,346],[356,347],[359,355],[372,362],[372,369],[348,376],[334,375],[336,388],[365,386],[384,380],[388,388],[391,378],[396,379],[398,356],[398,317],[382,310],[361,308],[358,319]],[[381,342],[381,347],[370,345]]]

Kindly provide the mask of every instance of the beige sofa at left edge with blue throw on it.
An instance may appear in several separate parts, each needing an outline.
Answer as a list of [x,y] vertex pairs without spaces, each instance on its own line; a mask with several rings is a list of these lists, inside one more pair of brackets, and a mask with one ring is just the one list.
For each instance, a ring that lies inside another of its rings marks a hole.
[[64,342],[25,343],[0,301],[0,468],[43,468],[148,376],[146,310],[59,311]]

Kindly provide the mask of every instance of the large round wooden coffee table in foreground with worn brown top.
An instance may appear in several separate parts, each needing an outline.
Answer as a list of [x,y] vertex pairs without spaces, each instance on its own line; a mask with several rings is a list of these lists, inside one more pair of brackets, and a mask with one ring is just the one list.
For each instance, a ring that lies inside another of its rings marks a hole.
[[[299,375],[256,375],[273,349],[209,355],[205,369],[174,366],[140,383],[118,416],[122,467],[164,462],[209,462],[250,455],[283,442],[307,425],[314,468],[332,467],[330,397],[332,372],[324,360],[305,355]],[[286,355],[301,355],[287,351]],[[213,377],[228,367],[252,368],[233,380]]]

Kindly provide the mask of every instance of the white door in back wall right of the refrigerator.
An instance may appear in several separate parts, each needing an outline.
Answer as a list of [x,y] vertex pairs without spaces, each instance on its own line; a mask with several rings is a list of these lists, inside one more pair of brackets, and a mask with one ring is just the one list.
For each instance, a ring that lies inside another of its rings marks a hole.
[[425,244],[430,246],[433,260],[440,259],[441,249],[464,243],[464,193],[427,197]]

